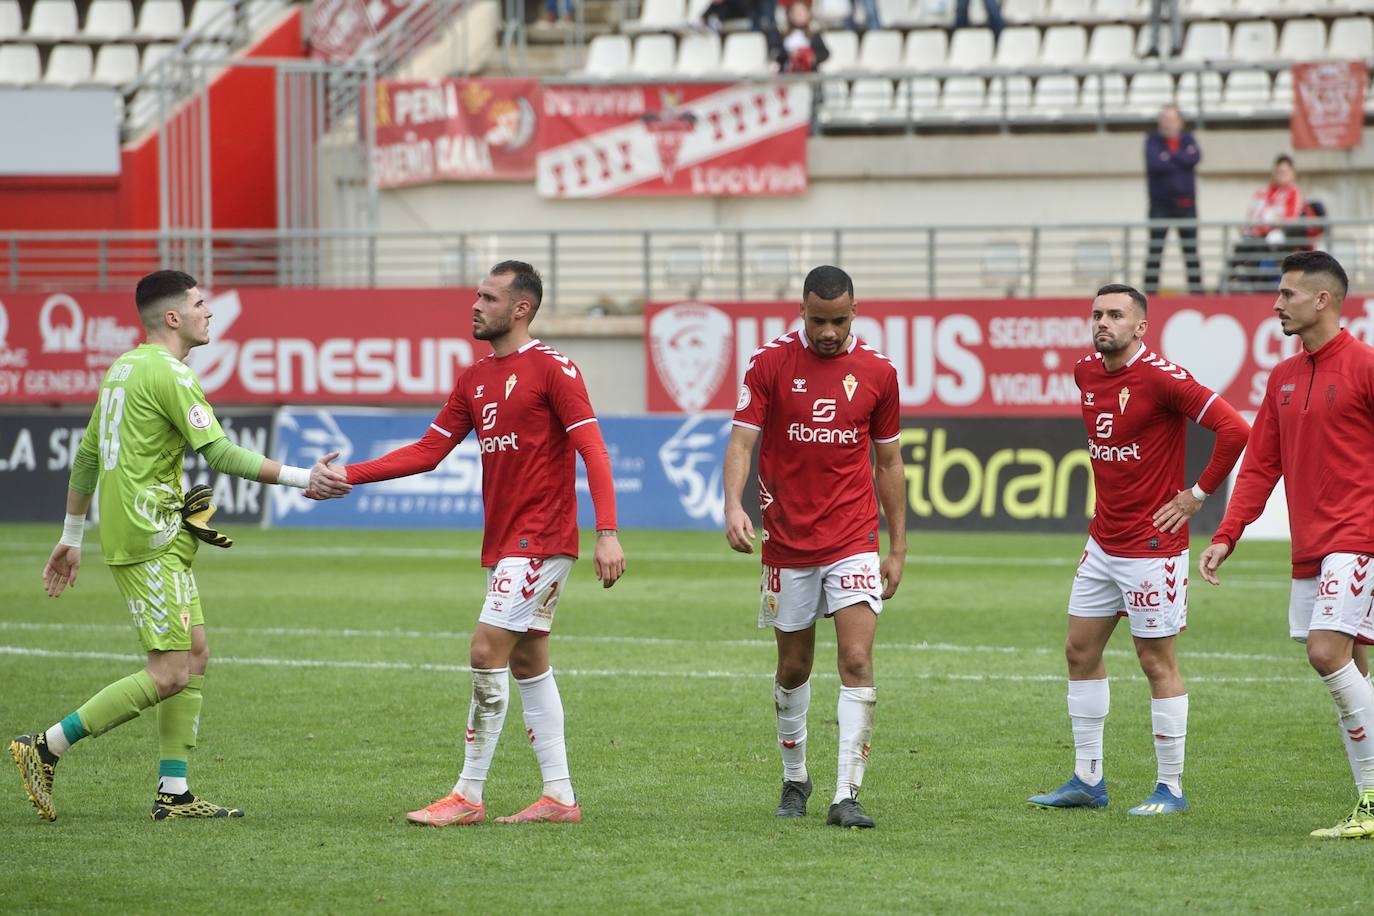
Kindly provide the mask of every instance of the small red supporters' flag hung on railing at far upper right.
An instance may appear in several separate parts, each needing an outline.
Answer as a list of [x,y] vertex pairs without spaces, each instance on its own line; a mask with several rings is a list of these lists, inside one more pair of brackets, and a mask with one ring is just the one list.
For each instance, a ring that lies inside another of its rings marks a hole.
[[1293,117],[1289,122],[1298,150],[1351,150],[1364,128],[1363,60],[1293,65]]

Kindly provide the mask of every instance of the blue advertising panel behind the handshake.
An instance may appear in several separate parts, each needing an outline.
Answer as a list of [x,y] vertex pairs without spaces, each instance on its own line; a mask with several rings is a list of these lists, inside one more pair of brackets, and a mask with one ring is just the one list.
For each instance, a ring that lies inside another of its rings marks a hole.
[[[283,408],[276,453],[308,467],[338,452],[341,463],[365,461],[408,445],[429,428],[430,411]],[[724,525],[721,464],[730,416],[602,417],[616,477],[621,527],[720,530]],[[315,501],[300,490],[272,489],[272,523],[289,527],[453,529],[482,526],[482,466],[477,442],[460,442],[429,474],[359,486],[342,500]],[[578,525],[595,512],[577,461]]]

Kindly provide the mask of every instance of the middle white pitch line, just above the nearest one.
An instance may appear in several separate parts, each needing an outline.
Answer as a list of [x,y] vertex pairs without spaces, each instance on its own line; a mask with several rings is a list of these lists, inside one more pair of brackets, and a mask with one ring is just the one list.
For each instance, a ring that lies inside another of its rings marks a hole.
[[[37,623],[27,621],[0,621],[0,630],[69,630],[87,633],[126,633],[128,625],[111,623]],[[407,640],[470,640],[473,634],[463,630],[357,630],[331,629],[311,626],[212,626],[212,634],[232,636],[287,636],[302,639],[407,639]],[[672,639],[664,636],[565,636],[554,637],[558,643],[592,643],[592,644],[624,644],[624,645],[682,645],[682,647],[735,647],[735,648],[772,648],[772,640],[691,640]],[[834,648],[830,641],[818,641],[820,648]],[[874,648],[882,651],[910,651],[910,652],[962,652],[978,655],[1059,655],[1063,652],[1058,645],[966,645],[962,643],[883,643],[878,641]],[[1120,658],[1135,658],[1132,650],[1106,650],[1105,655]],[[1187,652],[1180,651],[1183,659],[1209,659],[1220,662],[1278,662],[1298,663],[1303,661],[1301,652],[1293,655],[1259,655],[1250,652]]]

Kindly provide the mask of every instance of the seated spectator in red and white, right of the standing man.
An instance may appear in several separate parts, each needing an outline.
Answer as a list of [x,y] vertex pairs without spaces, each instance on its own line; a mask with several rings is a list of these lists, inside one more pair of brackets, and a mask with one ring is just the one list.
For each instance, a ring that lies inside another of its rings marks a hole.
[[[1278,265],[1285,255],[1311,243],[1305,227],[1292,225],[1308,216],[1303,192],[1297,187],[1293,159],[1274,159],[1270,183],[1250,198],[1246,227],[1231,253],[1230,287],[1232,291],[1268,291],[1279,279]],[[1287,225],[1285,225],[1287,224]]]

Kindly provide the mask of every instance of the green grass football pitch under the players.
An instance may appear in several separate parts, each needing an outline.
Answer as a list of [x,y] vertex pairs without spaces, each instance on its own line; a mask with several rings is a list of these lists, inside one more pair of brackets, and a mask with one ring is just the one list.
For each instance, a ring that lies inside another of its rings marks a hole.
[[[43,596],[58,533],[0,527],[5,737],[139,666],[93,542],[77,588]],[[247,817],[148,820],[151,713],[67,755],[55,824],[4,762],[0,909],[1370,912],[1374,843],[1307,836],[1353,791],[1331,700],[1286,637],[1286,545],[1243,544],[1221,589],[1193,575],[1187,816],[1125,814],[1153,788],[1154,755],[1124,626],[1107,661],[1110,808],[1024,805],[1072,766],[1061,645],[1083,537],[912,537],[878,628],[863,794],[878,829],[860,832],[824,825],[833,630],[818,647],[811,814],[780,823],[757,559],[717,534],[628,531],[627,577],[600,591],[584,547],[555,622],[584,823],[433,829],[403,813],[460,768],[478,534],[234,534],[196,564],[213,658],[191,784]],[[513,689],[488,810],[537,794]]]

